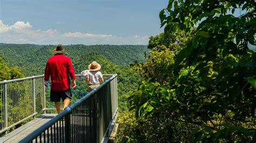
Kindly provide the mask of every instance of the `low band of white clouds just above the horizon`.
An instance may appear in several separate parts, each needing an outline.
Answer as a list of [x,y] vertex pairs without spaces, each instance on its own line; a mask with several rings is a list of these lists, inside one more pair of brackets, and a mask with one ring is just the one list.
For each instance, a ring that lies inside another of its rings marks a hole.
[[16,22],[5,25],[0,20],[0,42],[15,44],[110,44],[110,45],[147,45],[149,36],[117,37],[112,34],[91,34],[82,32],[61,33],[55,29],[33,30],[29,22]]

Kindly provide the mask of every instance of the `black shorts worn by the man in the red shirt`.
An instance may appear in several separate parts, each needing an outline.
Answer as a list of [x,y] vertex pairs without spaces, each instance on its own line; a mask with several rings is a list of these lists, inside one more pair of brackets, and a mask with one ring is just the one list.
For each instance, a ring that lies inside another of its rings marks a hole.
[[50,92],[50,99],[51,102],[60,102],[60,98],[62,98],[62,101],[64,101],[65,99],[72,99],[72,93],[71,93],[71,89],[67,89],[67,90],[62,90],[62,91],[58,91],[58,90],[51,90]]

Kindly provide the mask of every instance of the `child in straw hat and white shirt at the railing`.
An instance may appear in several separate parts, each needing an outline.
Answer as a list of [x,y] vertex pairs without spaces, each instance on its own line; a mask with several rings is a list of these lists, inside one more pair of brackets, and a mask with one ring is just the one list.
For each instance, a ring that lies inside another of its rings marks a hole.
[[99,71],[101,66],[96,61],[93,61],[88,66],[89,72],[85,75],[85,81],[89,83],[88,91],[92,91],[93,89],[97,88],[100,82],[104,82],[103,75]]

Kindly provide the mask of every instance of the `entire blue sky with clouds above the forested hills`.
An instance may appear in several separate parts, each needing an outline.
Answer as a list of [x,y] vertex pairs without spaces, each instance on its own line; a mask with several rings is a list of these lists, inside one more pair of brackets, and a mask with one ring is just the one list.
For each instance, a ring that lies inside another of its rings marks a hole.
[[0,42],[147,45],[168,0],[0,0]]

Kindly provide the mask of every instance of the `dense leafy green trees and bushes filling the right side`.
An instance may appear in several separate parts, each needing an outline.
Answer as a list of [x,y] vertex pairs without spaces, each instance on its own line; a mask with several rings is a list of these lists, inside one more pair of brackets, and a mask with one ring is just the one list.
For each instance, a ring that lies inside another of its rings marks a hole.
[[[237,10],[245,13],[228,14]],[[144,118],[144,124],[162,120],[183,132],[151,141],[255,142],[256,53],[248,48],[256,45],[255,2],[170,0],[159,17],[165,37],[179,30],[192,35],[184,43],[151,38],[150,45],[157,44],[147,62],[136,65],[143,80],[130,97],[133,127]],[[180,39],[186,38],[182,33]],[[152,139],[145,134],[154,132],[149,126],[143,132],[130,128],[120,141]]]

